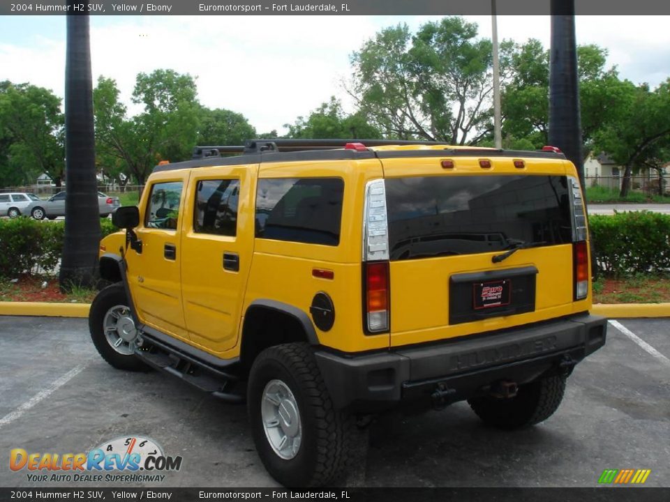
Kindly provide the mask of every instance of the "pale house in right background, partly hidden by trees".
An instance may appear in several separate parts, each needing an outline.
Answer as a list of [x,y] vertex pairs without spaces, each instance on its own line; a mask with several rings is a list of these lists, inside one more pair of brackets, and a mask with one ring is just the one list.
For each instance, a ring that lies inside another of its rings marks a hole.
[[[584,161],[584,179],[586,186],[601,186],[610,190],[620,190],[625,166],[618,165],[605,153],[589,155]],[[670,174],[670,162],[663,168],[666,178]],[[650,185],[657,186],[658,172],[655,169],[640,169],[631,178],[631,190],[649,190]],[[667,183],[667,181],[665,181]],[[651,188],[653,190],[653,188]]]

